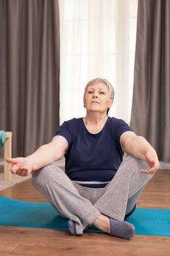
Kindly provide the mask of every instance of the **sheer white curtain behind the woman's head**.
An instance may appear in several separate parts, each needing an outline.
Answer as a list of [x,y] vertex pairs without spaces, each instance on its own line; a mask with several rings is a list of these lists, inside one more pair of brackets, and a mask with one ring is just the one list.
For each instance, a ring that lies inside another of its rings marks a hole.
[[60,0],[60,122],[85,116],[88,80],[115,88],[109,116],[129,122],[134,81],[137,0]]

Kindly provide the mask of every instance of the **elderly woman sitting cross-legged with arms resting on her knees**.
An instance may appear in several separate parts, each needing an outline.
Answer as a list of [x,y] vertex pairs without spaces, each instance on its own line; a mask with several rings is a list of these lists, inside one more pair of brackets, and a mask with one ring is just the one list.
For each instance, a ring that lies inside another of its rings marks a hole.
[[[69,219],[74,235],[95,225],[112,236],[132,238],[134,225],[124,219],[134,211],[142,189],[159,167],[150,143],[123,120],[108,116],[113,99],[109,81],[90,80],[85,87],[84,118],[65,121],[53,140],[34,154],[7,159],[12,173],[32,173],[34,187]],[[65,173],[55,163],[63,156]]]

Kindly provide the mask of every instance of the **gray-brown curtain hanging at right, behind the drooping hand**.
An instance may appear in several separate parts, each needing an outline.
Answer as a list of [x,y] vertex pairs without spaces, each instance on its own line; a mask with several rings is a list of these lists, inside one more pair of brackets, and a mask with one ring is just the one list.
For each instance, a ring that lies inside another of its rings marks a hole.
[[139,0],[131,128],[170,162],[169,0]]

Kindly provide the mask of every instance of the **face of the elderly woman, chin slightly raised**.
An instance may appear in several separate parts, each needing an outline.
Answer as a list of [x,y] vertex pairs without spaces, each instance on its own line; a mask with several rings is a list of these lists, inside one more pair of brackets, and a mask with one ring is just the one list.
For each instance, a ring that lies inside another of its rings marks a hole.
[[110,99],[109,89],[104,83],[95,83],[85,91],[84,105],[88,112],[105,113],[112,103],[113,99]]

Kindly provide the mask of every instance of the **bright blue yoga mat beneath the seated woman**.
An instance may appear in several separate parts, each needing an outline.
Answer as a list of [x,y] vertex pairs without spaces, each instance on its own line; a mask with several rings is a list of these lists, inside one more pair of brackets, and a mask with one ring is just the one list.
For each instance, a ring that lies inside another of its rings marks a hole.
[[[135,226],[135,233],[170,236],[170,209],[136,208],[126,219]],[[50,203],[32,203],[0,197],[0,225],[54,228],[68,230],[68,219],[61,217]],[[96,227],[86,232],[101,233]]]

